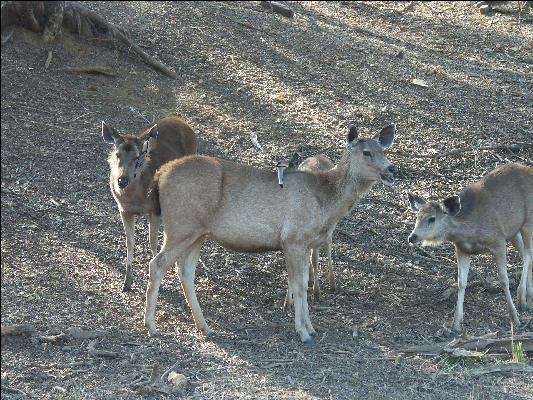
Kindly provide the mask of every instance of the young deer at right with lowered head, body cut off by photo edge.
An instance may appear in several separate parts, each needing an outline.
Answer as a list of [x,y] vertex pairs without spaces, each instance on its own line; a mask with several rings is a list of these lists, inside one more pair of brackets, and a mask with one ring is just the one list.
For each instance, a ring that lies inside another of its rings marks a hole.
[[412,193],[407,196],[417,213],[409,244],[438,246],[450,241],[455,246],[458,293],[452,333],[461,333],[470,258],[480,253],[494,257],[509,314],[519,329],[520,320],[509,291],[506,244],[510,241],[523,260],[518,301],[519,310],[527,311],[533,300],[533,168],[519,163],[500,166],[466,186],[459,195],[441,202],[426,201]]

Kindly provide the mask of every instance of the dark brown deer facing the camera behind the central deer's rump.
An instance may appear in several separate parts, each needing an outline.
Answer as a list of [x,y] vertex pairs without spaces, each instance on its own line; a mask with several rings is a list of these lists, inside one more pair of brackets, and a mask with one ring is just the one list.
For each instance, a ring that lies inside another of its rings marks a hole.
[[115,198],[126,232],[126,278],[123,290],[131,289],[131,263],[135,245],[135,216],[148,214],[149,237],[153,255],[157,253],[157,233],[160,216],[152,211],[148,191],[155,171],[164,163],[195,154],[197,140],[194,131],[178,117],[167,117],[137,135],[120,135],[102,121],[102,137],[114,144],[108,158],[111,168],[109,186]]

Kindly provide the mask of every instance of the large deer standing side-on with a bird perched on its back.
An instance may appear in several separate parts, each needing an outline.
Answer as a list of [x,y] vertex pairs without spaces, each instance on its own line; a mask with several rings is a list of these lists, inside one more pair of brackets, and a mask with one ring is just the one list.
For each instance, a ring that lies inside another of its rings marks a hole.
[[154,177],[154,209],[163,220],[163,246],[150,261],[144,325],[159,336],[155,310],[159,286],[178,260],[178,276],[196,328],[213,334],[196,297],[194,278],[204,240],[244,253],[282,251],[293,294],[294,323],[303,343],[314,343],[307,303],[309,255],[375,183],[394,184],[397,168],[383,151],[396,127],[358,139],[351,125],[339,163],[327,171],[275,172],[202,155],[163,165]]

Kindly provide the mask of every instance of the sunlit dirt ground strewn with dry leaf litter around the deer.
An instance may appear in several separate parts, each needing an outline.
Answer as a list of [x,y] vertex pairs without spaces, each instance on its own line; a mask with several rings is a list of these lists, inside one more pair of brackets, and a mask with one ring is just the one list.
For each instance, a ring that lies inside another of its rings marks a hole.
[[[482,15],[477,2],[285,3],[293,18],[259,2],[85,2],[177,79],[108,42],[65,36],[46,45],[16,29],[2,46],[2,324],[97,336],[2,337],[2,398],[179,397],[141,384],[155,362],[159,374],[174,367],[188,378],[184,398],[533,396],[530,373],[475,373],[508,365],[510,354],[472,360],[402,351],[444,340],[456,301],[443,296],[456,281],[453,247],[407,244],[414,216],[405,191],[442,198],[498,165],[533,165],[531,149],[480,149],[533,140],[531,19]],[[64,70],[87,65],[115,76]],[[321,257],[323,296],[310,296],[314,345],[300,343],[292,312],[282,311],[282,254],[238,254],[211,242],[196,288],[216,335],[196,331],[171,271],[156,311],[162,336],[148,337],[147,220],[138,218],[133,291],[123,293],[125,237],[100,124],[135,133],[167,115],[194,128],[200,153],[271,170],[296,151],[338,160],[351,122],[363,137],[396,123],[387,154],[401,170],[397,184],[376,185],[333,237],[336,293]],[[516,298],[521,261],[509,254]],[[531,331],[531,313],[520,317]],[[464,328],[510,330],[487,256],[472,263]],[[90,355],[89,344],[114,357]]]

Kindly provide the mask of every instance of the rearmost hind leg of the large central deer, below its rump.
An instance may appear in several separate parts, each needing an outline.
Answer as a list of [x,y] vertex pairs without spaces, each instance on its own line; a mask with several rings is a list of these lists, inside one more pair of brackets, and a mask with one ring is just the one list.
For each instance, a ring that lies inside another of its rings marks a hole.
[[146,287],[146,304],[144,307],[144,326],[148,328],[152,337],[159,336],[154,318],[161,280],[168,269],[180,258],[184,250],[191,245],[191,242],[194,243],[194,241],[189,240],[178,242],[179,244],[175,244],[176,242],[169,244],[165,238],[161,251],[150,261],[150,277]]

